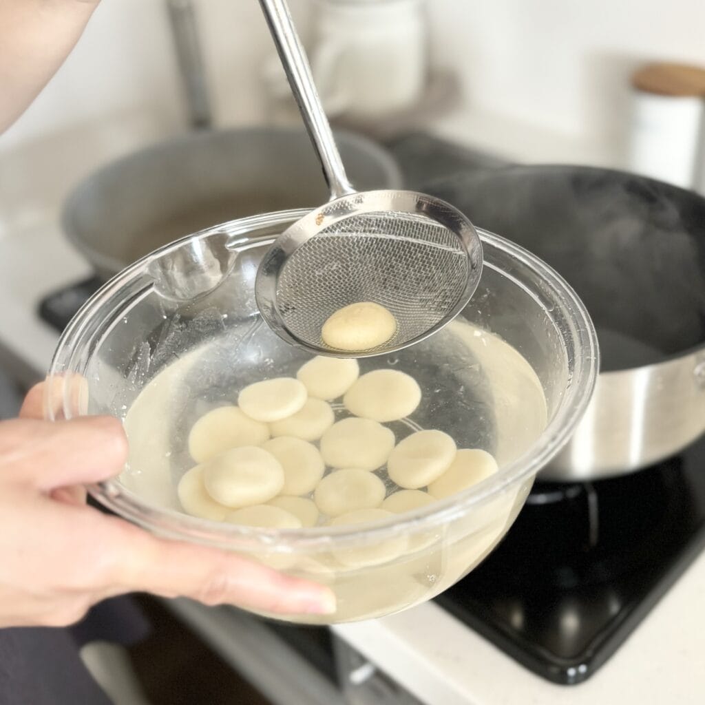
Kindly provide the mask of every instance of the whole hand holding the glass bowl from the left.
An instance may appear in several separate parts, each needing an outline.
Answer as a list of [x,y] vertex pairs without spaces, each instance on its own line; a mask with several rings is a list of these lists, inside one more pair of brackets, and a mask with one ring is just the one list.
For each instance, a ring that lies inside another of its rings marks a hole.
[[76,486],[121,471],[127,441],[111,417],[41,420],[42,386],[0,422],[0,627],[68,625],[131,591],[329,613],[326,587],[228,551],[158,539],[85,504]]

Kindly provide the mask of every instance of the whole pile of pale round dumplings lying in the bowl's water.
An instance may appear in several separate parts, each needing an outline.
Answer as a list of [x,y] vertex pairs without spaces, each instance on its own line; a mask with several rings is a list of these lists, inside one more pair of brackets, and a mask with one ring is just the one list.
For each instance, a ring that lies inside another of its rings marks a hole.
[[[341,397],[348,416],[336,422],[331,402]],[[492,455],[458,450],[443,431],[397,443],[384,424],[410,417],[421,402],[421,388],[404,372],[360,375],[357,360],[314,357],[295,379],[250,384],[237,406],[195,422],[188,450],[196,465],[178,484],[179,501],[195,517],[252,527],[353,525],[422,507],[497,472]]]

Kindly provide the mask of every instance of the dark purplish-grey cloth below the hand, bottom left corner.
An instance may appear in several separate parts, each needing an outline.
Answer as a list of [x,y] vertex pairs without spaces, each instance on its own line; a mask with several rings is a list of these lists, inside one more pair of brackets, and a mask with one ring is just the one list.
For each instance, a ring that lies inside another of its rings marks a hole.
[[110,705],[79,649],[93,641],[130,646],[148,633],[128,597],[100,603],[73,627],[0,629],[0,705]]

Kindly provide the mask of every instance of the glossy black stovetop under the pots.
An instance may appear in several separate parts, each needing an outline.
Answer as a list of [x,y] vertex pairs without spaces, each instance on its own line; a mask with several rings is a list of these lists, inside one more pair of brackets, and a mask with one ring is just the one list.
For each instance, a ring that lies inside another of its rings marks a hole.
[[[407,188],[501,161],[427,135],[388,147]],[[100,286],[47,295],[62,330]],[[503,542],[436,598],[535,673],[574,684],[594,673],[705,546],[705,439],[676,458],[593,483],[537,482]]]

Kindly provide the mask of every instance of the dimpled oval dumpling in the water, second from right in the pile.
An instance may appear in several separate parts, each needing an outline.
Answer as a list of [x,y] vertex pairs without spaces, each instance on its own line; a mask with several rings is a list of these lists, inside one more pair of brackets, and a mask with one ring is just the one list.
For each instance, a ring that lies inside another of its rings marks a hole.
[[448,470],[455,452],[455,441],[443,431],[417,431],[392,450],[387,471],[400,487],[419,489]]

